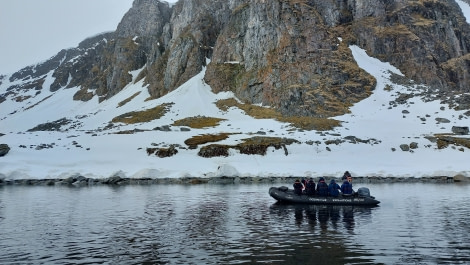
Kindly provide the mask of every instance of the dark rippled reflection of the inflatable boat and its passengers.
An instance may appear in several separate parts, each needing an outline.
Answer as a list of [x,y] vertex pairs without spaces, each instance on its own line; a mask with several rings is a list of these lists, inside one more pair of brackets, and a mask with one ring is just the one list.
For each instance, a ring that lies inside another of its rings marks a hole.
[[272,240],[293,250],[284,256],[282,264],[304,260],[315,260],[315,264],[377,264],[367,249],[354,242],[361,227],[372,223],[376,209],[380,207],[272,204]]

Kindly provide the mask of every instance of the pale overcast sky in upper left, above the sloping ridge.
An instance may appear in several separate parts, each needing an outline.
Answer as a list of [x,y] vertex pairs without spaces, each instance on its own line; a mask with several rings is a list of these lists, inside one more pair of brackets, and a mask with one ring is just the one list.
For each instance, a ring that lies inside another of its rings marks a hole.
[[0,74],[114,31],[133,0],[0,0]]

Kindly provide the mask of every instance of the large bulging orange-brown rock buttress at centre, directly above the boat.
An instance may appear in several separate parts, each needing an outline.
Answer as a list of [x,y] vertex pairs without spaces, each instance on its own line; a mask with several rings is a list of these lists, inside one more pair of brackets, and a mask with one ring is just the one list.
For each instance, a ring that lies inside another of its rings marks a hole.
[[335,25],[352,19],[346,8],[325,0],[247,1],[219,36],[206,82],[288,116],[346,112],[375,87],[338,39]]

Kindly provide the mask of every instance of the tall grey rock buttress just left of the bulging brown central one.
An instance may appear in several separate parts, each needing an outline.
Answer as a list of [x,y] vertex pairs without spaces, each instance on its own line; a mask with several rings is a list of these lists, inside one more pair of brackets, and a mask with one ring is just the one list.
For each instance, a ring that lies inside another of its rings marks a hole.
[[202,70],[206,58],[239,0],[178,2],[164,28],[156,60],[147,66],[146,82],[154,97],[165,95]]

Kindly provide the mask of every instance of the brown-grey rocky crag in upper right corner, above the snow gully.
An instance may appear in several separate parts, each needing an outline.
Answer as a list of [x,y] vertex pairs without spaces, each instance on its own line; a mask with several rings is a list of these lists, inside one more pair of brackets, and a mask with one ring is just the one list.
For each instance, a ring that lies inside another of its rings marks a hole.
[[470,28],[454,1],[395,1],[383,6],[383,16],[355,20],[352,30],[358,45],[417,82],[444,91],[470,91]]

